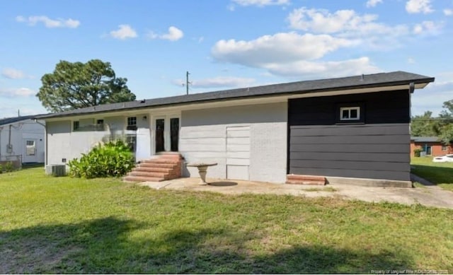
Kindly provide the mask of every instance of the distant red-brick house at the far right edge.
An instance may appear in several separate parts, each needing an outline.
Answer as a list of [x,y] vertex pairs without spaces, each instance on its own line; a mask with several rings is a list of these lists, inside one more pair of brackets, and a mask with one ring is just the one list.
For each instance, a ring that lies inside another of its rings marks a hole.
[[442,156],[453,153],[452,144],[442,144],[437,136],[411,136],[411,156],[415,156],[416,148],[422,150],[423,156]]

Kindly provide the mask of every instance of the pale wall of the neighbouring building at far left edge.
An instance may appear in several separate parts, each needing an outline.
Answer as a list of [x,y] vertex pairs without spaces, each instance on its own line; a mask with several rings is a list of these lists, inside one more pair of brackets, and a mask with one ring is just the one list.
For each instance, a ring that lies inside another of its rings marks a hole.
[[[43,122],[41,122],[43,123]],[[13,150],[11,153],[7,151],[7,144],[9,142],[9,124],[0,127],[0,156],[14,156],[25,154],[25,140],[35,141],[35,156],[30,158],[22,158],[23,162],[44,162],[45,154],[45,129],[42,125],[36,123],[33,119],[26,119],[21,122],[14,122],[11,124],[11,144]]]

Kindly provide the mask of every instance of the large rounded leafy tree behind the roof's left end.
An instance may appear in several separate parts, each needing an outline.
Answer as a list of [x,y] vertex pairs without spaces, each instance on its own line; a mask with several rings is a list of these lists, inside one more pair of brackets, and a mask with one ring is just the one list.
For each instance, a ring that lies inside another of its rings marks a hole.
[[110,63],[99,59],[86,63],[62,60],[41,81],[36,96],[51,112],[135,100],[126,86],[127,78],[116,77]]

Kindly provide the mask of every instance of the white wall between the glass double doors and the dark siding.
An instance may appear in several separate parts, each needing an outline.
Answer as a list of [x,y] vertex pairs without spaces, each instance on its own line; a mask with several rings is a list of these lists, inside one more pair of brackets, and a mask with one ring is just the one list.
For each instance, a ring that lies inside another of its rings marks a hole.
[[[244,148],[242,163],[243,165],[249,163],[247,168],[249,180],[285,182],[287,103],[183,111],[180,153],[188,162],[218,163],[217,166],[208,169],[207,177],[222,179],[227,177],[227,165],[230,164],[227,163],[227,159],[231,156],[226,146],[227,127],[249,127],[250,129],[250,147],[247,150]],[[234,156],[239,155],[241,154],[234,154]],[[228,177],[231,179],[235,176],[241,177],[245,170],[240,166],[231,166]],[[239,173],[238,169],[241,175],[234,175],[235,170]],[[184,175],[197,177],[197,169],[187,168]]]

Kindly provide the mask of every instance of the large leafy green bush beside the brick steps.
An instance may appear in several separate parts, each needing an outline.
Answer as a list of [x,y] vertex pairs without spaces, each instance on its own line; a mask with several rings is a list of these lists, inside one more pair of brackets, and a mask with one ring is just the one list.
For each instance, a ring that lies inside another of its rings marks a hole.
[[134,168],[134,154],[124,141],[110,141],[94,147],[79,159],[69,160],[69,176],[121,177]]

